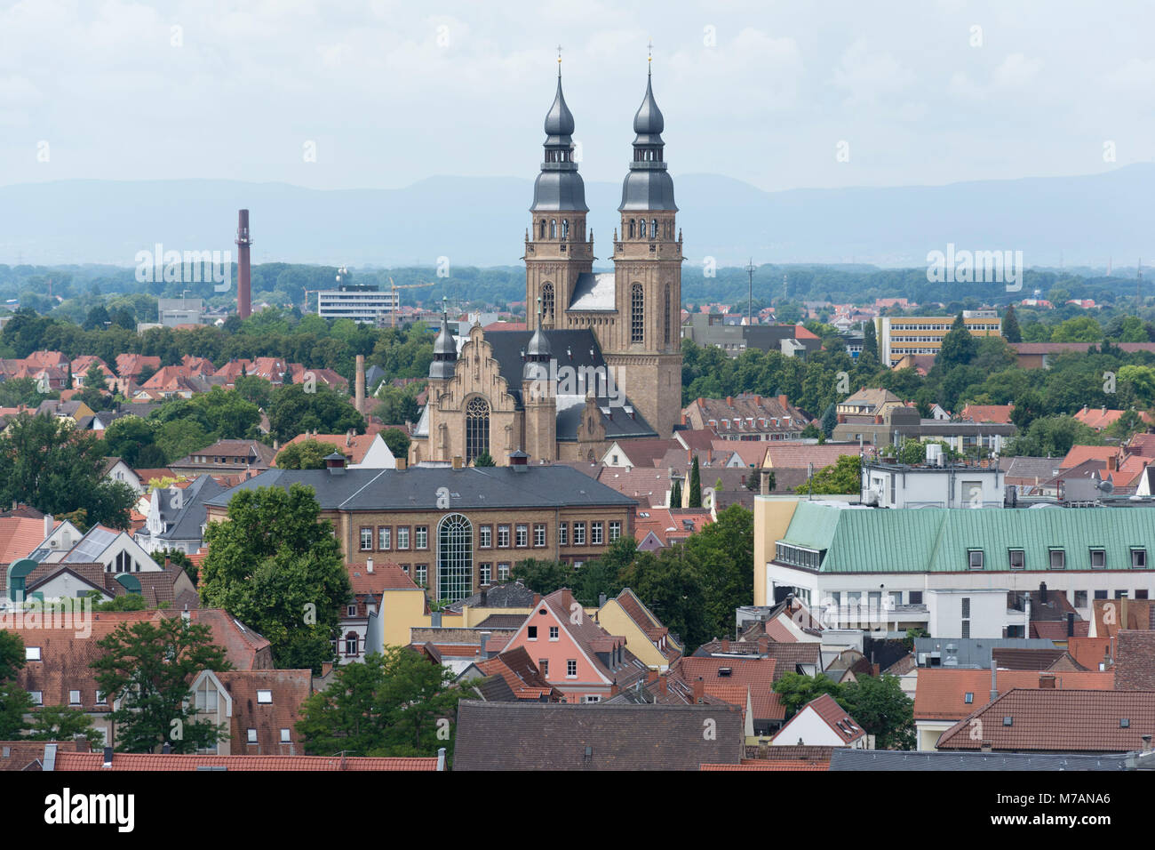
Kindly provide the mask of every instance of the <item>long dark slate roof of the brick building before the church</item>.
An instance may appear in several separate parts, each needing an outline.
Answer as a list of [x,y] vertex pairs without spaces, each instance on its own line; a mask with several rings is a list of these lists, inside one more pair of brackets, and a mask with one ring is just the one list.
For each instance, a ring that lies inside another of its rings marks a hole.
[[[233,494],[293,483],[312,487],[322,510],[439,510],[438,490],[448,489],[454,510],[628,505],[636,502],[568,466],[415,466],[409,470],[266,470],[206,504],[228,507]],[[492,593],[492,590],[490,591]]]

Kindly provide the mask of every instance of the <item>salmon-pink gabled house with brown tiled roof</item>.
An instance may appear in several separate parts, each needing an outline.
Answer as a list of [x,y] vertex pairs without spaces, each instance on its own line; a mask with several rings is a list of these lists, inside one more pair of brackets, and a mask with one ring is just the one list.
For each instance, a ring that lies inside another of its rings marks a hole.
[[646,678],[646,665],[589,616],[568,587],[542,599],[505,651],[524,649],[565,702],[601,702]]

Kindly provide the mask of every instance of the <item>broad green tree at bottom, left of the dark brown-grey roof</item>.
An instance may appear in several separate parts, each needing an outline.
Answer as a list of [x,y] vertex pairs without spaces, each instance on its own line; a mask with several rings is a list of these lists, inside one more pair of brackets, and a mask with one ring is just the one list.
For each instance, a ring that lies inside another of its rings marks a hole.
[[334,681],[300,707],[305,753],[373,756],[453,753],[457,702],[470,694],[453,673],[408,646],[386,646],[364,664],[336,668]]

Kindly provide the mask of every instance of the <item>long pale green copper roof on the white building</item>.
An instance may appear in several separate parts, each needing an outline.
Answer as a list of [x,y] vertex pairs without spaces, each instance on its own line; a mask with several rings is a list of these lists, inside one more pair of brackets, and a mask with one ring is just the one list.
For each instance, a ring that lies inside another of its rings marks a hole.
[[[1090,550],[1106,553],[1108,570],[1130,570],[1132,547],[1155,556],[1155,512],[1148,508],[978,508],[860,510],[800,502],[783,542],[825,549],[822,572],[970,572],[968,553],[984,553],[983,570],[1009,569],[1022,549],[1027,571],[1048,572],[1050,550],[1066,553],[1067,570],[1090,569]],[[1150,563],[1148,561],[1148,563]]]

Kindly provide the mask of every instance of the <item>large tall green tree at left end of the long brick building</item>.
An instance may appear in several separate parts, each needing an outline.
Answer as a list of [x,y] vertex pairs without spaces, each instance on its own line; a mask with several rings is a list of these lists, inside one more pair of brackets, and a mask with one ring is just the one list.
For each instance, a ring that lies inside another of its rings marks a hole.
[[263,635],[282,668],[320,671],[331,660],[329,642],[351,598],[341,544],[320,512],[312,487],[259,487],[237,493],[229,519],[204,532],[202,603]]

